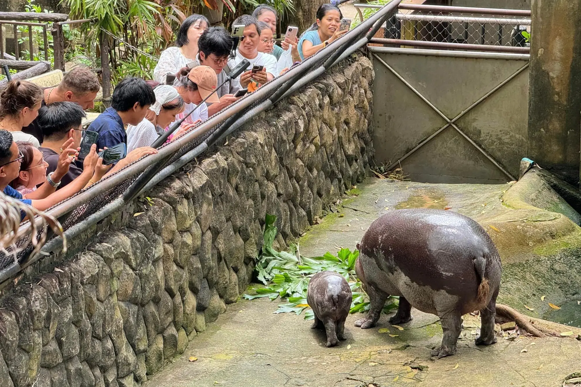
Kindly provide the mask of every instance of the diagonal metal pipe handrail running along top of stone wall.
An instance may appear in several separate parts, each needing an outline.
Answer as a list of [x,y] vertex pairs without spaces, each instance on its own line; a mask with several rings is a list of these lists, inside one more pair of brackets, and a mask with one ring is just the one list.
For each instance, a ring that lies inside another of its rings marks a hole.
[[[57,218],[65,216],[67,213],[70,213],[77,207],[95,198],[100,193],[106,192],[108,189],[116,187],[117,185],[119,185],[120,182],[123,182],[128,178],[133,177],[134,175],[143,173],[148,167],[152,166],[153,164],[160,163],[162,162],[163,159],[171,157],[182,146],[187,145],[189,142],[195,141],[201,135],[211,130],[211,128],[219,124],[225,123],[225,121],[227,121],[229,117],[237,116],[239,114],[241,115],[241,117],[235,120],[234,122],[228,123],[227,125],[222,125],[220,128],[218,128],[218,130],[213,132],[213,134],[210,135],[210,137],[206,138],[205,141],[202,142],[202,144],[196,146],[196,148],[192,149],[191,151],[180,157],[180,159],[176,160],[169,166],[162,169],[159,173],[150,177],[148,184],[146,184],[144,188],[140,189],[140,192],[138,193],[145,192],[146,190],[152,188],[153,185],[157,184],[157,182],[163,180],[163,178],[180,169],[182,166],[193,160],[194,157],[200,155],[202,152],[205,152],[205,150],[210,148],[212,145],[216,144],[216,142],[223,138],[225,135],[241,127],[244,123],[246,123],[246,121],[256,116],[257,112],[266,110],[268,107],[272,106],[275,102],[279,101],[279,99],[284,98],[284,96],[287,96],[290,93],[296,91],[297,88],[302,87],[303,85],[311,82],[312,80],[314,80],[314,78],[320,76],[322,73],[327,71],[330,67],[334,66],[340,60],[346,58],[348,55],[351,55],[357,49],[363,47],[365,44],[367,44],[367,42],[375,34],[379,27],[381,27],[381,24],[385,22],[385,20],[388,19],[388,17],[393,15],[394,11],[396,10],[400,2],[401,0],[393,0],[388,5],[379,10],[377,13],[375,13],[375,15],[370,17],[370,19],[365,20],[364,23],[361,23],[359,26],[354,28],[349,33],[343,35],[338,40],[332,42],[326,48],[321,49],[319,52],[317,52],[310,58],[307,58],[299,66],[291,68],[290,70],[286,71],[286,73],[282,74],[282,76],[274,78],[274,80],[263,85],[263,87],[259,88],[257,91],[233,103],[227,109],[224,109],[221,112],[214,114],[214,116],[210,117],[210,119],[208,119],[202,124],[199,124],[192,130],[188,131],[182,137],[176,139],[173,142],[170,142],[169,144],[162,146],[161,148],[159,148],[159,152],[156,155],[149,155],[143,157],[137,162],[130,164],[124,169],[121,169],[117,173],[114,173],[104,178],[97,184],[91,185],[89,188],[85,189],[84,191],[81,191],[77,195],[74,195],[73,197],[64,200],[63,202],[49,209],[47,212]],[[361,35],[364,35],[364,37],[358,38]],[[315,66],[315,64],[317,64],[317,62],[320,61],[320,58],[325,56],[329,56],[329,58],[325,60],[325,63],[322,64],[321,66],[313,68],[313,66]],[[306,73],[305,69],[307,69],[307,71],[308,70],[313,71],[305,75],[304,74]],[[276,92],[274,94],[272,93],[273,91],[278,89],[286,89],[286,92],[284,93],[284,95],[277,94]],[[275,97],[274,101],[272,96]],[[247,110],[248,107],[254,105],[256,102],[259,102],[263,99],[264,101],[261,102],[260,105],[253,107],[253,109]],[[131,192],[125,191],[119,198],[112,200],[112,202],[103,206],[103,208],[98,210],[96,213],[91,214],[83,221],[65,230],[64,235],[67,238],[72,238],[73,236],[76,236],[81,232],[87,230],[87,228],[90,227],[92,224],[95,224],[96,222],[102,220],[109,214],[119,210],[126,204],[125,200],[123,199],[124,197],[134,196],[129,195],[130,193]],[[40,220],[34,221],[39,222]],[[26,227],[26,224],[21,227]],[[2,270],[0,272],[0,282],[3,282],[6,279],[12,277],[13,275],[19,273],[21,270],[23,270],[23,268],[30,266],[30,264],[33,264],[35,261],[40,259],[40,257],[46,255],[47,253],[56,252],[61,248],[62,248],[62,239],[60,236],[55,236],[55,238],[52,238],[51,241],[48,241],[46,245],[42,247],[41,253],[29,257],[28,260],[22,263],[15,262],[11,264],[9,267],[6,267],[4,270]]]

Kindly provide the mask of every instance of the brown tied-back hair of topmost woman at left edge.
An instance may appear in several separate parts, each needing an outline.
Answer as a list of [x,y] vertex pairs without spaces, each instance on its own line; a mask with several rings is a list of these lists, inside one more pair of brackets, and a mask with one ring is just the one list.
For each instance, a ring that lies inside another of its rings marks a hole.
[[32,109],[42,101],[42,89],[28,81],[10,81],[0,94],[0,119],[18,116],[24,107]]

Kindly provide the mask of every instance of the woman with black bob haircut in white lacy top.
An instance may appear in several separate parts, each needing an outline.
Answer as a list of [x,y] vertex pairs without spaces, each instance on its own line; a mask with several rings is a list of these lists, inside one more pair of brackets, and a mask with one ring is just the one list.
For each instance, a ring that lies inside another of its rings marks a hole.
[[153,69],[153,79],[165,84],[167,74],[175,74],[182,67],[196,60],[198,38],[208,26],[206,16],[197,13],[188,16],[177,33],[175,46],[164,50],[160,55],[159,62]]

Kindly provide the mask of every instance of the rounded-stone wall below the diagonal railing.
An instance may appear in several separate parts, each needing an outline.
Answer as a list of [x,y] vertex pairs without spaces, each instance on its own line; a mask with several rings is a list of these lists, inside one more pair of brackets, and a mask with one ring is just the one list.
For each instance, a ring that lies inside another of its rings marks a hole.
[[266,213],[285,246],[364,177],[372,78],[346,59],[21,280],[1,300],[0,385],[134,386],[184,352],[248,286]]

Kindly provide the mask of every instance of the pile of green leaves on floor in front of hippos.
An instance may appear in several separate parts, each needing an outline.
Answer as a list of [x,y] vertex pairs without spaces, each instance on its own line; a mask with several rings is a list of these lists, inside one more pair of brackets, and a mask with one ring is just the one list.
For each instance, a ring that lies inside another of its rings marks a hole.
[[[263,238],[263,253],[256,263],[258,279],[266,287],[255,288],[256,295],[245,294],[249,300],[268,297],[271,301],[287,299],[287,303],[279,304],[275,313],[305,312],[305,320],[313,319],[313,311],[307,304],[307,287],[314,274],[330,270],[342,275],[353,293],[353,302],[350,313],[369,310],[369,301],[365,295],[361,282],[355,274],[355,262],[359,256],[358,250],[353,252],[342,248],[337,255],[327,252],[320,257],[306,257],[300,255],[298,246],[291,246],[290,251],[278,252],[272,248],[277,227],[274,225],[277,217],[266,215]],[[397,308],[397,298],[392,297],[383,308],[385,313]]]

